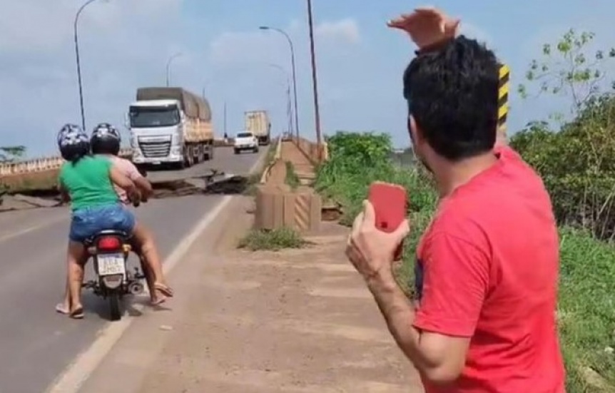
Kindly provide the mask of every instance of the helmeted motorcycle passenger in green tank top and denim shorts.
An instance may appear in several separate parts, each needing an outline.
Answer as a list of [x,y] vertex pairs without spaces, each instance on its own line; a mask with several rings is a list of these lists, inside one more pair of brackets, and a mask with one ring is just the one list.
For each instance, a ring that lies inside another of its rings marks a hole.
[[[83,265],[88,260],[83,241],[100,230],[122,230],[133,235],[133,243],[141,247],[143,255],[146,255],[148,270],[152,272],[152,292],[173,296],[173,291],[163,281],[158,252],[149,231],[136,222],[113,188],[113,185],[120,188],[126,200],[138,200],[138,185],[109,158],[91,155],[91,141],[78,126],[64,126],[58,134],[58,145],[62,157],[68,161],[60,170],[59,184],[64,199],[71,200],[73,220],[68,246],[66,294],[63,303],[56,306],[56,311],[73,318],[83,317],[81,282]],[[158,295],[152,297],[158,304],[166,299]]]

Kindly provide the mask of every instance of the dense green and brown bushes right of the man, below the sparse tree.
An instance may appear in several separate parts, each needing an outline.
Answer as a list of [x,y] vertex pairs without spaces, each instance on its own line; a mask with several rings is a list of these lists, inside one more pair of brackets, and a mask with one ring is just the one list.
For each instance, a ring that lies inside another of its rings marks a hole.
[[615,98],[586,101],[576,118],[553,132],[530,123],[511,145],[542,176],[561,225],[615,237]]

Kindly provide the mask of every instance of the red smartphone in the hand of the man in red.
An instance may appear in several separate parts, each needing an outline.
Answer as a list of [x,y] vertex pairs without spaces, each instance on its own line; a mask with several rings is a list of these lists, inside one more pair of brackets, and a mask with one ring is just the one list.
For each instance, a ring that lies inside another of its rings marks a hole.
[[[367,200],[374,206],[376,228],[382,232],[395,232],[406,218],[407,193],[401,185],[376,181],[370,185]],[[394,260],[402,258],[403,243],[395,250]]]

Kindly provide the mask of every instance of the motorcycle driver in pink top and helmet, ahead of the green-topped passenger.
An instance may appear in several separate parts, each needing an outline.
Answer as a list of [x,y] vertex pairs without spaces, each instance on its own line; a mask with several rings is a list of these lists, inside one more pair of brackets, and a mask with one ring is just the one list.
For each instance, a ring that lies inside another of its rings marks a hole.
[[[116,168],[133,180],[133,183],[141,192],[141,200],[146,201],[151,197],[153,194],[151,183],[141,175],[131,161],[118,156],[121,146],[121,134],[115,127],[109,123],[98,124],[92,131],[90,146],[93,155],[111,160]],[[116,186],[116,192],[123,203],[126,205],[131,203],[126,191],[121,187]],[[146,260],[146,263],[142,263],[142,265],[150,291],[151,302],[153,305],[159,305],[166,300],[167,296],[172,297],[173,291],[166,285],[163,287],[158,285],[156,287],[156,282],[164,282],[161,260],[151,230],[148,230],[144,225],[141,229],[140,232],[135,234],[131,243],[133,250],[141,257],[142,262],[143,258]]]

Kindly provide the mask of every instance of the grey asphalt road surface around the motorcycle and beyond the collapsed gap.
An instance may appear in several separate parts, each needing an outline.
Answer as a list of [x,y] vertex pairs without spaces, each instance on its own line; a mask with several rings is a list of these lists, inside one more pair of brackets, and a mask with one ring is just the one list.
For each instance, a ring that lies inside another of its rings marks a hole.
[[[214,160],[188,170],[193,175],[208,173],[208,168],[248,173],[265,150],[258,155],[233,155],[230,148],[217,148]],[[170,174],[156,174],[166,175]],[[151,200],[136,215],[153,229],[166,258],[221,198],[192,195]],[[83,292],[84,320],[54,312],[65,280],[68,219],[67,208],[0,214],[0,393],[44,392],[109,323],[106,302],[88,291]]]

